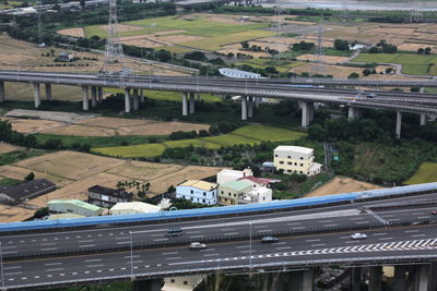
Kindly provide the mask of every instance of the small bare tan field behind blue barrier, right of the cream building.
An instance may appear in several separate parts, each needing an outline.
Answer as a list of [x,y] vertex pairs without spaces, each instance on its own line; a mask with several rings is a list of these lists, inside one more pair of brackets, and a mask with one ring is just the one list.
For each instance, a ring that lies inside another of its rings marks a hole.
[[326,195],[359,192],[359,191],[367,191],[375,189],[380,189],[380,186],[357,181],[346,177],[335,177],[332,181],[326,183],[324,185],[305,195],[305,197],[319,197]]

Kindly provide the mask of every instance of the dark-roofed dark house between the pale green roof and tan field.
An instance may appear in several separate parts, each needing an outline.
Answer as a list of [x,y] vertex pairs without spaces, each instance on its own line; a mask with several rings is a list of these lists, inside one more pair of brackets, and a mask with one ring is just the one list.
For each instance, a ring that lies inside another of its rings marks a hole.
[[122,189],[110,189],[99,185],[88,187],[88,202],[110,208],[120,202],[131,202],[133,194]]

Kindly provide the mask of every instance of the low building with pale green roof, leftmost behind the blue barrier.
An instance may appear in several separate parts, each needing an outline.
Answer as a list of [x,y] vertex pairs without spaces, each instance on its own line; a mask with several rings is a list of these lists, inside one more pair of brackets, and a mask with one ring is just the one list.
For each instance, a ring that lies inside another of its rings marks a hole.
[[50,201],[47,203],[50,213],[76,214],[82,216],[99,216],[104,211],[102,207],[78,199]]

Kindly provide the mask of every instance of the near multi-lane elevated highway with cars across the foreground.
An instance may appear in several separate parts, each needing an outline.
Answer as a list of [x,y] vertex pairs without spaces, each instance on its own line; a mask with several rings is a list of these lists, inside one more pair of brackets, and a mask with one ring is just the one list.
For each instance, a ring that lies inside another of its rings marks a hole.
[[[4,290],[47,289],[217,270],[296,269],[303,270],[308,283],[314,268],[341,265],[358,272],[370,266],[373,290],[380,290],[379,266],[392,265],[401,288],[406,271],[414,269],[415,290],[432,291],[437,278],[437,220],[432,215],[436,208],[436,193],[428,192],[228,217],[2,233],[1,286]],[[180,227],[184,234],[167,238],[169,227]],[[355,232],[367,239],[351,240]],[[264,235],[280,241],[262,244]],[[208,248],[190,251],[190,241],[204,242]],[[359,279],[352,281],[357,284]],[[307,284],[300,290],[311,289]]]

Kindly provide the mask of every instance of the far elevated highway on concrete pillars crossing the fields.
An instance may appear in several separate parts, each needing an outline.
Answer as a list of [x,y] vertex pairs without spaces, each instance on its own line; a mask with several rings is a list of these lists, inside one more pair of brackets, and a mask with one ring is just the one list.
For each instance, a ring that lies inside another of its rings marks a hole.
[[[125,112],[138,110],[143,100],[143,89],[180,92],[182,116],[194,113],[196,94],[239,95],[241,96],[241,120],[253,116],[253,107],[259,98],[291,99],[300,102],[302,126],[307,128],[314,119],[314,102],[334,104],[349,107],[349,118],[359,118],[362,108],[383,109],[397,112],[397,136],[401,136],[402,112],[421,114],[421,125],[426,124],[427,116],[437,114],[437,96],[430,94],[405,94],[393,92],[357,92],[355,89],[334,89],[308,87],[328,86],[417,86],[436,87],[433,81],[350,81],[350,80],[235,80],[223,77],[175,77],[175,76],[99,76],[54,72],[0,71],[0,101],[8,98],[4,82],[25,82],[34,84],[35,108],[40,105],[40,85],[45,85],[46,98],[51,99],[52,85],[81,86],[83,90],[83,110],[95,107],[103,98],[103,87],[116,87],[125,90]],[[303,86],[306,87],[303,87]],[[371,95],[376,97],[371,97]],[[369,97],[370,96],[370,97]]]

